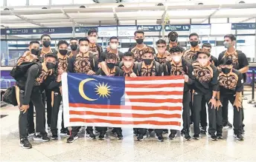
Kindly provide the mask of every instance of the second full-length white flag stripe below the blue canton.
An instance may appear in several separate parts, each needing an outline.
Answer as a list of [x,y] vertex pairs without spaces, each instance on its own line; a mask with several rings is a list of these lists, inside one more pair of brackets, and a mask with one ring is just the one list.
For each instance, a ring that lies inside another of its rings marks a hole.
[[70,115],[70,118],[97,118],[109,121],[178,121],[182,122],[181,118],[160,118],[160,117],[150,117],[150,118],[132,118],[131,117],[112,117],[112,116],[99,116],[99,115]]

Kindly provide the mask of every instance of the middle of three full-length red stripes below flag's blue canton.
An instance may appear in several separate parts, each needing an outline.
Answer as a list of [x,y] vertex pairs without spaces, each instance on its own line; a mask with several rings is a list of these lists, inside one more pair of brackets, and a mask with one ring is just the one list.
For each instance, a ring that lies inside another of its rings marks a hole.
[[91,112],[91,111],[69,111],[70,115],[97,115],[97,116],[109,116],[109,117],[127,117],[127,118],[181,118],[179,114],[127,114],[127,113],[114,113],[114,112]]

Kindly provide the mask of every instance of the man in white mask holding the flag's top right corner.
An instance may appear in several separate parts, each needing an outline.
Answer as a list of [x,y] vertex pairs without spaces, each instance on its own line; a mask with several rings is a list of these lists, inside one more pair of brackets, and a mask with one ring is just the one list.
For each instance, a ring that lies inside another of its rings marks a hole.
[[[185,85],[183,92],[183,132],[185,134],[186,140],[191,140],[189,135],[189,126],[190,126],[190,89],[194,81],[194,76],[192,74],[193,67],[190,62],[182,58],[183,48],[180,46],[170,48],[170,55],[173,58],[172,61],[167,61],[164,65],[164,75],[184,75],[185,76]],[[157,132],[158,133],[158,132]],[[158,136],[162,136],[159,132]],[[176,136],[176,130],[171,129],[169,138],[173,140]]]

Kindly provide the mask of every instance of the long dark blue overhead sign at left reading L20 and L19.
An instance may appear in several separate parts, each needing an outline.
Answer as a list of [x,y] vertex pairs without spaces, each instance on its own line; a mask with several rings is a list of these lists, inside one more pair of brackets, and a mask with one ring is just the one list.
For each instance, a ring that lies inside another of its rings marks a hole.
[[72,33],[72,27],[39,27],[7,29],[7,35],[62,34]]

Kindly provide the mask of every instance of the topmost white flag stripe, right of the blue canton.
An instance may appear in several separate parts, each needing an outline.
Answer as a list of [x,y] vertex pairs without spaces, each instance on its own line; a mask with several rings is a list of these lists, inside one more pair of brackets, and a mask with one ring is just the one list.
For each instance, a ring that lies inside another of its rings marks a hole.
[[153,81],[125,81],[125,84],[181,84],[184,83],[184,79],[177,80],[153,80]]

